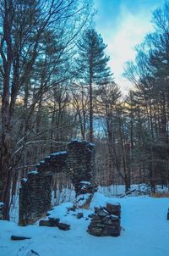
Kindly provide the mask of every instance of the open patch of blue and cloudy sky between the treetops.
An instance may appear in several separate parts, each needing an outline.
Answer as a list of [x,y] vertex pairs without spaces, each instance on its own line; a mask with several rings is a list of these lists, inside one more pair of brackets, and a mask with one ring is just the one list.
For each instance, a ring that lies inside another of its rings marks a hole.
[[110,55],[109,65],[123,94],[131,86],[123,78],[126,61],[134,60],[134,47],[153,30],[152,11],[161,7],[165,0],[94,0],[96,30],[108,44],[106,53]]

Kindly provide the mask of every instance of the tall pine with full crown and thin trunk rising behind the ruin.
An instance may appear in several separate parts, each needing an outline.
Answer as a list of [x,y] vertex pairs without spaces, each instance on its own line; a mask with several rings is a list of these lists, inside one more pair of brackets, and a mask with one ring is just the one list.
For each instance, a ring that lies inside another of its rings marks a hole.
[[112,74],[107,66],[109,57],[105,54],[106,44],[95,29],[91,28],[84,32],[78,43],[78,49],[78,77],[89,86],[90,142],[93,142],[93,88],[101,84],[101,81],[111,78]]

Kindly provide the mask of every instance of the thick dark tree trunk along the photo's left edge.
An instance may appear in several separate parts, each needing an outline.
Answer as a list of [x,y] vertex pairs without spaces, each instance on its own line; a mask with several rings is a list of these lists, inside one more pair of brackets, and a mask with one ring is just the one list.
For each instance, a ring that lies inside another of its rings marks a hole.
[[[12,50],[12,20],[13,1],[4,1],[3,39],[1,40],[0,53],[3,59],[3,96],[2,96],[2,136],[0,155],[0,200],[4,203],[3,218],[9,220],[10,185],[11,185],[11,129],[12,116],[10,116],[10,74],[13,61]],[[7,54],[3,52],[4,42],[7,45]]]

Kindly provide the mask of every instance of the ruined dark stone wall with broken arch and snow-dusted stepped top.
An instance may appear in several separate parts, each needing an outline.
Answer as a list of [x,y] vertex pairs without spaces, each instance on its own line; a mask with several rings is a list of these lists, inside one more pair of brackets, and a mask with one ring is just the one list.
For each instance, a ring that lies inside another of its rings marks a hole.
[[21,180],[19,191],[19,225],[35,223],[51,209],[53,175],[68,174],[76,195],[82,192],[81,181],[90,181],[94,190],[95,147],[89,142],[72,141],[67,150],[52,153],[36,164],[35,170]]

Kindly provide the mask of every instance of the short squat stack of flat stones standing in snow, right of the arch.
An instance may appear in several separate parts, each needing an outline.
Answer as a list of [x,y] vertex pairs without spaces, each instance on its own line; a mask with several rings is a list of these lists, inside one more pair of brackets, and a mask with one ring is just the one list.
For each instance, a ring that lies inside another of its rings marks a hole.
[[107,203],[106,207],[95,208],[95,214],[91,218],[88,232],[96,237],[120,236],[121,205]]

